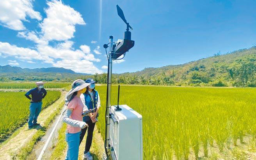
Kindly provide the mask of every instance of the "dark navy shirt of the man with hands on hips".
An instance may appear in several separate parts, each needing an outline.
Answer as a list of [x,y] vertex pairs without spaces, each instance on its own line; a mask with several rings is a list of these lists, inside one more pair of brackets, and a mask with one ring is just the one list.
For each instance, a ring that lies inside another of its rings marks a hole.
[[38,88],[33,88],[30,91],[28,91],[25,96],[31,100],[29,95],[32,95],[32,101],[34,102],[38,102],[38,101],[42,101],[42,99],[46,96],[47,92],[44,88],[42,88],[40,91],[38,90]]

